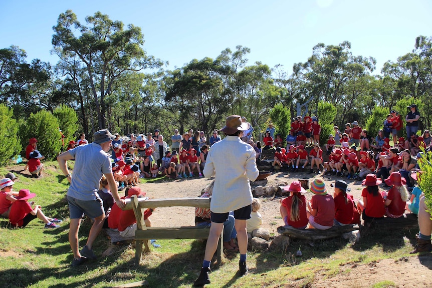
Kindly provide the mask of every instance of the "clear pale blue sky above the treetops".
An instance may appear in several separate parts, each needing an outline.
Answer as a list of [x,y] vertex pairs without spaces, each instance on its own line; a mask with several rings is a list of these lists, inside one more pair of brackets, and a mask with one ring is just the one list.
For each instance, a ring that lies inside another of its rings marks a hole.
[[237,45],[251,49],[255,61],[291,73],[294,63],[306,62],[318,43],[351,42],[353,55],[382,65],[409,53],[415,37],[432,36],[432,2],[428,0],[310,0],[310,1],[29,1],[0,0],[0,48],[19,46],[34,58],[57,63],[52,27],[71,9],[82,24],[100,11],[125,25],[139,26],[149,55],[169,61],[165,69],[192,59],[215,58]]

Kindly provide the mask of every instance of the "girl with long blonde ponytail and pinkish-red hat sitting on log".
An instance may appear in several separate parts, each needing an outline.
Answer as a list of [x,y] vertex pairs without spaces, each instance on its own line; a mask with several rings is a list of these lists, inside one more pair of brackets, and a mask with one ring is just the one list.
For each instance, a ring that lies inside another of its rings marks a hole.
[[306,213],[306,197],[303,195],[306,190],[299,181],[293,181],[289,186],[284,187],[290,192],[290,196],[281,201],[281,216],[285,226],[292,226],[297,229],[305,229],[308,225]]

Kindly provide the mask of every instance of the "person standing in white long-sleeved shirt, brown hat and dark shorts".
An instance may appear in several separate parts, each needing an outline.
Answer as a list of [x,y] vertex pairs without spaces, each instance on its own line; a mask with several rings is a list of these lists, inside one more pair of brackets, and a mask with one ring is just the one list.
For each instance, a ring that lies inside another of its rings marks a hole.
[[210,283],[210,261],[230,211],[234,211],[234,225],[240,250],[239,275],[248,272],[246,220],[251,218],[253,199],[249,181],[255,181],[259,175],[254,148],[240,139],[248,128],[250,124],[242,122],[239,115],[227,117],[226,125],[221,130],[227,137],[214,144],[208,152],[203,173],[207,178],[215,175],[210,202],[211,226],[204,261],[199,277],[194,282],[195,286]]

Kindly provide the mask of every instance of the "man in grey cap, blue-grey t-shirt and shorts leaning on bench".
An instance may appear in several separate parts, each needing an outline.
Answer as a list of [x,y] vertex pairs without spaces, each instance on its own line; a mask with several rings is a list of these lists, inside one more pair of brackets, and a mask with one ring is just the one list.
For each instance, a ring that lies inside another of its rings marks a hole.
[[[97,193],[102,175],[108,181],[111,194],[117,206],[120,208],[125,206],[124,201],[118,195],[117,185],[112,174],[110,157],[106,153],[114,138],[114,135],[107,129],[102,129],[93,134],[93,143],[78,146],[57,157],[60,168],[71,183],[66,197],[71,218],[69,243],[74,254],[72,266],[81,265],[88,258],[96,258],[92,246],[102,229],[105,219],[102,200]],[[72,159],[75,159],[73,176],[67,166],[67,161]],[[79,251],[78,231],[84,213],[94,219],[94,222],[90,229],[86,245]]]

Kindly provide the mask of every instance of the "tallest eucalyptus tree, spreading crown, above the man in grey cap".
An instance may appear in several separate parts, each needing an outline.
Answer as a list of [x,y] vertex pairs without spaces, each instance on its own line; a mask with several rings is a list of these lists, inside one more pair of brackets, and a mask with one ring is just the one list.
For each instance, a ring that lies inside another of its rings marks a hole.
[[106,97],[114,82],[128,71],[156,68],[161,63],[142,49],[141,28],[130,24],[124,29],[121,21],[100,12],[85,21],[87,25],[81,24],[71,10],[62,13],[53,27],[52,44],[61,62],[77,56],[86,68],[98,128],[105,128]]

